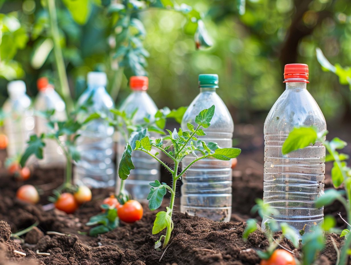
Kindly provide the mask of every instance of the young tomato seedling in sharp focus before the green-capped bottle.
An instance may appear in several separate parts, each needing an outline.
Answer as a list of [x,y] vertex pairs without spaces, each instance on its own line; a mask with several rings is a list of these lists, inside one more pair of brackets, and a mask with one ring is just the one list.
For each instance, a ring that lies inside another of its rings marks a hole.
[[[160,183],[159,181],[151,182],[151,191],[147,196],[149,201],[150,210],[158,209],[161,206],[163,197],[166,195],[167,190],[171,193],[170,206],[166,207],[166,211],[161,211],[157,213],[154,225],[152,228],[153,234],[158,234],[159,232],[166,229],[166,235],[161,235],[160,239],[155,242],[155,248],[160,247],[161,240],[164,239],[163,247],[167,246],[171,232],[173,230],[173,220],[172,213],[174,207],[174,198],[176,195],[176,185],[178,179],[184,175],[186,170],[190,168],[197,161],[204,158],[214,158],[220,160],[230,160],[237,157],[241,150],[238,148],[220,148],[216,143],[206,144],[204,141],[198,140],[197,136],[206,135],[202,128],[208,128],[211,125],[211,120],[214,115],[214,105],[208,109],[204,109],[196,116],[195,122],[197,127],[193,124],[188,123],[188,131],[183,131],[181,128],[177,131],[169,131],[169,136],[161,137],[158,139],[150,139],[147,135],[147,130],[141,130],[138,132],[133,132],[128,143],[125,146],[124,153],[122,155],[118,175],[121,179],[127,179],[130,171],[133,170],[134,164],[132,162],[132,152],[140,151],[145,152],[155,160],[157,160],[161,165],[163,165],[172,175],[172,185],[169,186],[166,183]],[[166,141],[170,143],[166,144]],[[153,154],[151,149],[158,149],[163,152],[174,162],[174,167],[170,168],[164,162],[158,158],[159,152]],[[183,171],[178,174],[178,167],[181,160],[187,156],[193,154],[194,160],[187,165]]]

